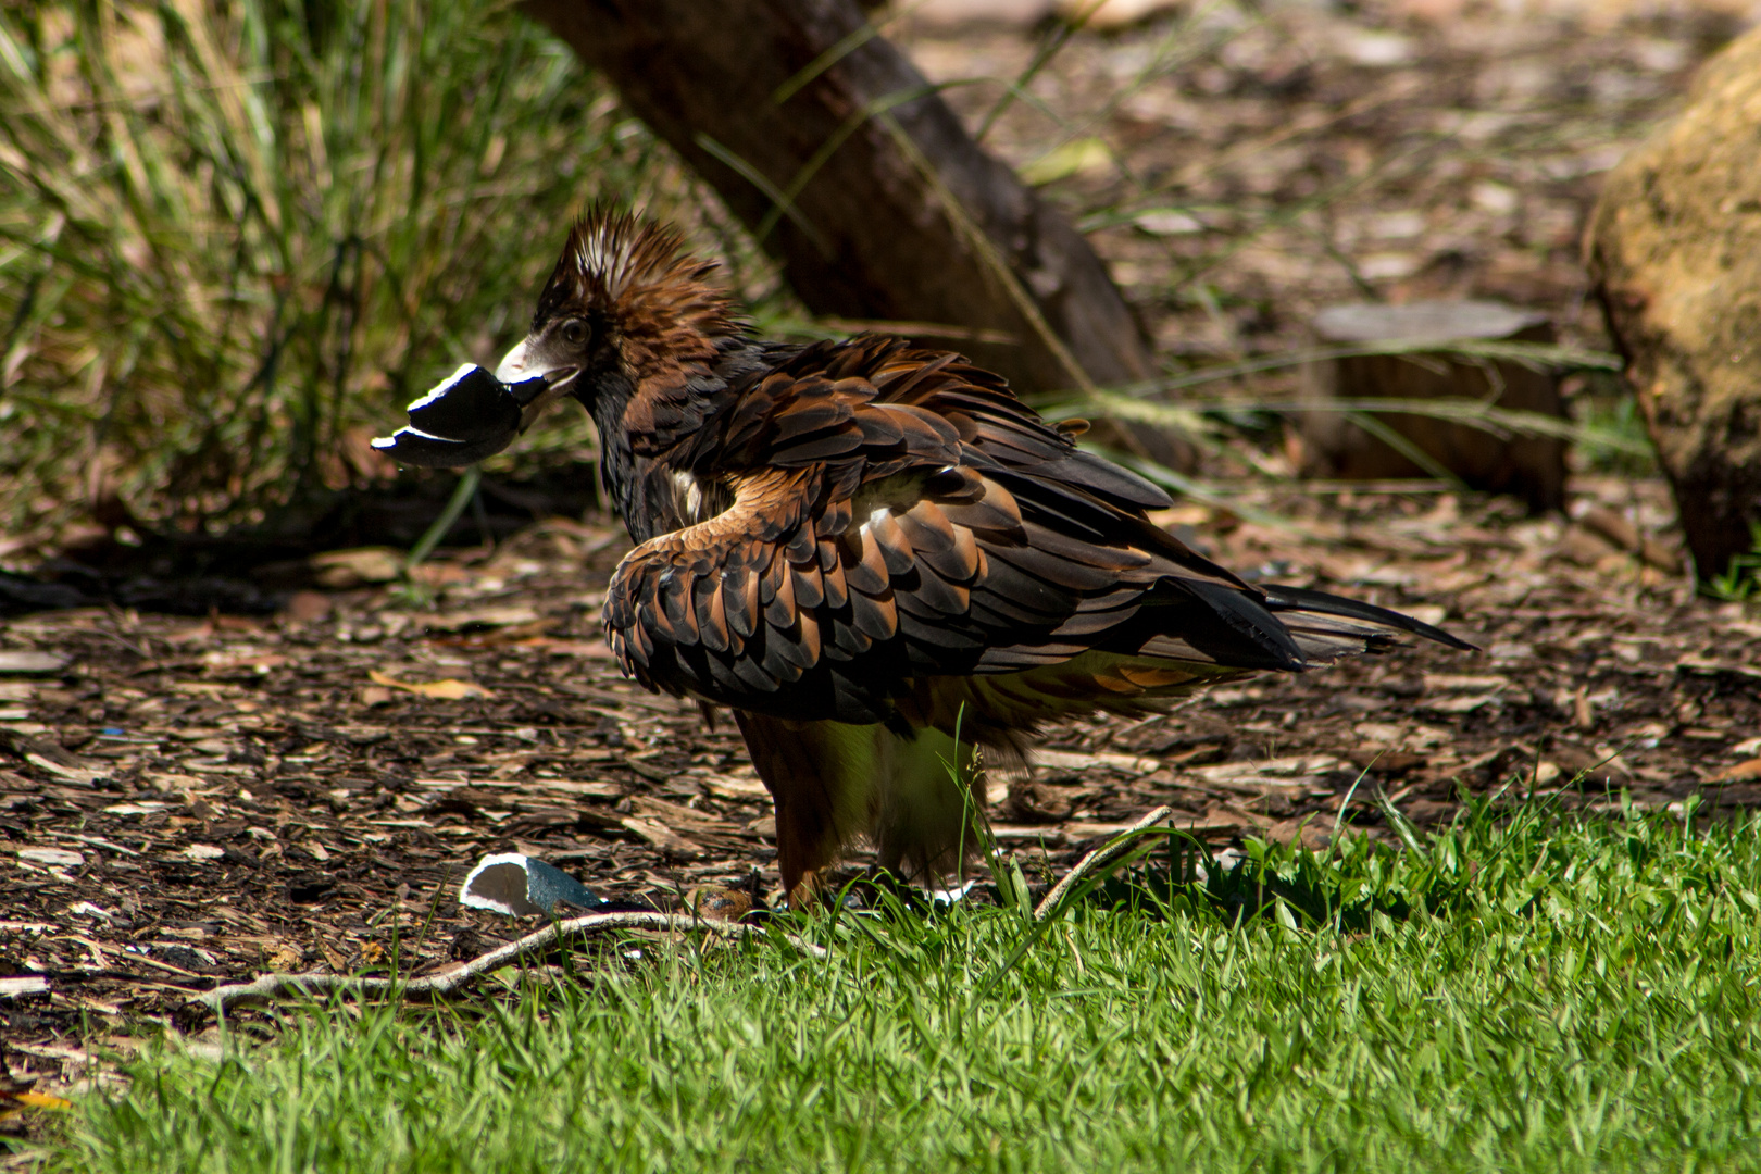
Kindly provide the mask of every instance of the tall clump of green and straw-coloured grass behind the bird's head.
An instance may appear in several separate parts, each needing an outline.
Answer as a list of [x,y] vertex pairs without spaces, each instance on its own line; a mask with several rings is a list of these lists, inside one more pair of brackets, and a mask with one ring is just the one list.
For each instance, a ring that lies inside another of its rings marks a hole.
[[261,523],[386,477],[370,437],[523,329],[585,202],[718,231],[495,0],[9,4],[0,111],[11,533]]

